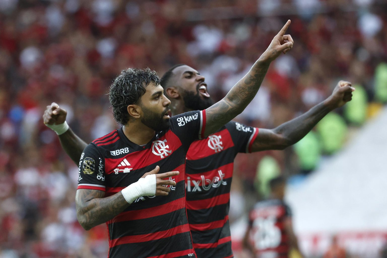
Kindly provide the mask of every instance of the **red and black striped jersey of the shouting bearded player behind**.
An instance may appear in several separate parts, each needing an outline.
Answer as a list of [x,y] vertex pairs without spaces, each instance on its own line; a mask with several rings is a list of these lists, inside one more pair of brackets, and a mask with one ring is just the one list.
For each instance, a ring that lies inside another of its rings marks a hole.
[[187,214],[198,258],[233,257],[228,211],[234,159],[251,152],[257,134],[258,128],[230,121],[188,150]]

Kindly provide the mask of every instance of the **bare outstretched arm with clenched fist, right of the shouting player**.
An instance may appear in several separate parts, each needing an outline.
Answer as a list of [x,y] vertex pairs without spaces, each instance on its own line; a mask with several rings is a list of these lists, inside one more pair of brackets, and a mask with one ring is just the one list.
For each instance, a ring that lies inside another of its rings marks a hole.
[[295,144],[307,135],[326,114],[351,101],[354,90],[350,82],[339,81],[332,95],[305,114],[271,130],[259,129],[257,138],[255,138],[252,145],[252,152],[273,149],[282,150]]

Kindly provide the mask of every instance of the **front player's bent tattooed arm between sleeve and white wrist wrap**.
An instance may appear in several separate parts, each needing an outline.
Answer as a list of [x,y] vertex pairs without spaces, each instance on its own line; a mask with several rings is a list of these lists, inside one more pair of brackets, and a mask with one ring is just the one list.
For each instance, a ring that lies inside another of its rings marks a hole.
[[130,204],[121,192],[104,197],[99,190],[78,189],[75,195],[77,218],[79,224],[86,230],[107,222],[120,214]]

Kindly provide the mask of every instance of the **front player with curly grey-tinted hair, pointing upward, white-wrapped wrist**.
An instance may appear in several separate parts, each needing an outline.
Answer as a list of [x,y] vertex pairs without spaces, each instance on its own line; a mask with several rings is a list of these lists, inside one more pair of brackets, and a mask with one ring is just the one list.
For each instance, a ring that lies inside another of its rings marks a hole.
[[[156,72],[129,68],[116,77],[109,100],[123,127],[84,149],[75,197],[82,227],[107,223],[109,257],[195,256],[185,210],[188,147],[250,103],[270,63],[293,46],[290,35],[284,35],[289,24],[228,94],[205,110],[170,118],[171,102]],[[49,127],[58,135],[74,136],[67,123]]]

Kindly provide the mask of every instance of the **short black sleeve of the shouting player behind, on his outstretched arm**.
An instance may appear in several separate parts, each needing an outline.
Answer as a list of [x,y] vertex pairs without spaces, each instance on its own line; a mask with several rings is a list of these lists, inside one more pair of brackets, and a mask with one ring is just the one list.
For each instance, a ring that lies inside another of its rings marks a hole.
[[226,125],[233,139],[236,153],[251,153],[251,148],[258,135],[258,128],[230,121]]

